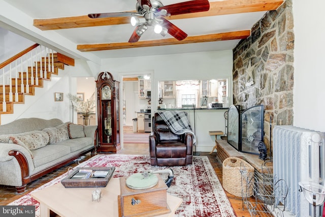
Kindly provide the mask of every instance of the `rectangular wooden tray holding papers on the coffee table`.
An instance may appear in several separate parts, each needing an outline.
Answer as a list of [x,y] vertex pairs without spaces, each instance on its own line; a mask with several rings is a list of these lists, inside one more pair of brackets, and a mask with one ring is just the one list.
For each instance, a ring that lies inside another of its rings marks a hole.
[[[61,183],[64,188],[106,187],[114,170],[115,167],[78,167],[63,178]],[[91,174],[87,174],[87,171]]]

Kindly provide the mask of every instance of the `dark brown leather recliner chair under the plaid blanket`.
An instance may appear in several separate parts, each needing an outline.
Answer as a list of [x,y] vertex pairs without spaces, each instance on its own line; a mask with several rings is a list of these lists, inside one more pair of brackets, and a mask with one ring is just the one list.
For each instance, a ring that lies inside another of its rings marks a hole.
[[158,113],[152,117],[152,132],[149,136],[151,165],[184,166],[192,164],[193,135],[174,134]]

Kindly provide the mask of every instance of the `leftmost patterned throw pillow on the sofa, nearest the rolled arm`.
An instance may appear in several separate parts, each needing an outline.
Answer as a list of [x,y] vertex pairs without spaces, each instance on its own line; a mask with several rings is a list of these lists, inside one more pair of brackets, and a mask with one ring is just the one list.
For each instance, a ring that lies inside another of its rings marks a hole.
[[49,135],[43,131],[31,131],[24,134],[16,134],[13,137],[23,142],[29,150],[44,147],[49,143]]

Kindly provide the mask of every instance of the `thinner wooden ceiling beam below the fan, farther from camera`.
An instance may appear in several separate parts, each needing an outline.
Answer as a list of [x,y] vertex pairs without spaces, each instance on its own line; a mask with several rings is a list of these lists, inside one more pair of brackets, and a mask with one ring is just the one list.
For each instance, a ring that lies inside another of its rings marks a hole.
[[182,41],[178,41],[175,38],[169,38],[169,39],[161,39],[161,40],[138,41],[135,43],[121,42],[121,43],[106,43],[106,44],[80,44],[77,45],[77,49],[82,52],[115,50],[115,49],[137,48],[137,47],[152,47],[152,46],[163,46],[163,45],[177,45],[177,44],[188,44],[188,43],[245,39],[249,36],[250,36],[250,30],[241,30],[241,31],[229,32],[229,33],[217,33],[217,34],[202,35],[202,36],[188,36]]

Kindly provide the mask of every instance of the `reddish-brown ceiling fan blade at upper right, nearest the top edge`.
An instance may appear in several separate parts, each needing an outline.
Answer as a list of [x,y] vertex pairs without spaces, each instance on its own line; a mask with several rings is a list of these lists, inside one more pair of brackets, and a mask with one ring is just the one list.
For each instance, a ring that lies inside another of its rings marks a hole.
[[209,11],[210,4],[208,0],[192,0],[172,5],[160,7],[158,11],[165,9],[170,15],[188,14]]

